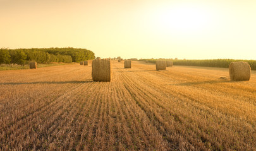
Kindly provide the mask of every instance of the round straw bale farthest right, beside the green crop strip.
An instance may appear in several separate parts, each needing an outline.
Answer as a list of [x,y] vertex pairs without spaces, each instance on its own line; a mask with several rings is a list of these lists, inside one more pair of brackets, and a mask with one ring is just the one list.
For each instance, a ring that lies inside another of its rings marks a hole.
[[229,64],[229,77],[231,81],[249,81],[251,67],[248,62],[231,62]]

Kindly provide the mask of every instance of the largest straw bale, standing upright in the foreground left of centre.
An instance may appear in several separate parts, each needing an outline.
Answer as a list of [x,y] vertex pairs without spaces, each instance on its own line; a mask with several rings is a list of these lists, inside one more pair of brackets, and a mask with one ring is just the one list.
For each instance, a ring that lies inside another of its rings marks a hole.
[[111,60],[92,60],[92,80],[111,81]]

